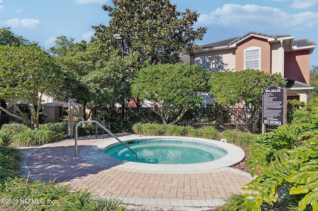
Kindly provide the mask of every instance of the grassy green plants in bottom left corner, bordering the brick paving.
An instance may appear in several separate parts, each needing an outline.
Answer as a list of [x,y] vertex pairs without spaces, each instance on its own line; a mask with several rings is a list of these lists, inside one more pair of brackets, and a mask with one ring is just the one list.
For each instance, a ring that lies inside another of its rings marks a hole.
[[2,204],[5,210],[121,211],[125,207],[117,198],[103,200],[94,197],[88,189],[73,191],[71,186],[55,181],[28,182],[26,178],[7,179],[0,186],[0,199],[31,199],[35,202]]

